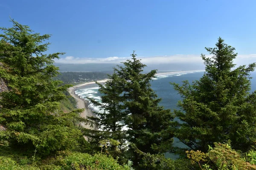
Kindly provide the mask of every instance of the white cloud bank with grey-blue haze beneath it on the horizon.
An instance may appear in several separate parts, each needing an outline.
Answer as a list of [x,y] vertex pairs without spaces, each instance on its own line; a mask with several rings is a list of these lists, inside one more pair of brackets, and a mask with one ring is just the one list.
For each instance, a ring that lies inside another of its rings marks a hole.
[[[210,55],[206,55],[211,57]],[[158,71],[188,71],[204,70],[204,62],[201,55],[174,55],[174,56],[153,56],[137,57],[147,65],[145,71],[157,69]],[[65,57],[56,60],[57,66],[61,71],[110,71],[120,62],[130,59],[129,57],[108,57],[108,58],[75,58]],[[256,54],[239,55],[234,63],[239,65],[248,65],[255,62]]]

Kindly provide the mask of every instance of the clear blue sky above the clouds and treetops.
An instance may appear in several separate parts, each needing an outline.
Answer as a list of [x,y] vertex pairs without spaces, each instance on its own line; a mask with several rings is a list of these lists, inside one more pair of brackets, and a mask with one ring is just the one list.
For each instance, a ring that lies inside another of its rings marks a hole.
[[49,52],[66,52],[66,61],[133,50],[199,56],[219,36],[248,55],[256,54],[255,7],[256,0],[2,0],[0,26],[11,27],[10,16],[52,34]]

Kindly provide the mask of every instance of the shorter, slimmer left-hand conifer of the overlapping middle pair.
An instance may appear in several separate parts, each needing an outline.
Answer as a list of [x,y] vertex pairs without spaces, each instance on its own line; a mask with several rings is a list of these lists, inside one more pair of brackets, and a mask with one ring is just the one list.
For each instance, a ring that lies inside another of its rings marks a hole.
[[[95,143],[98,149],[100,141],[114,139],[120,143],[118,148],[123,150],[126,135],[122,130],[124,124],[121,123],[125,118],[125,112],[122,110],[122,83],[116,73],[108,75],[108,77],[109,79],[104,85],[96,82],[99,92],[102,94],[101,102],[88,98],[93,105],[99,108],[99,111],[95,112],[96,116],[87,117],[87,124],[97,127],[97,129],[84,129],[84,135],[88,136],[90,143]],[[113,146],[111,149],[115,147]],[[112,155],[115,156],[116,153]]]

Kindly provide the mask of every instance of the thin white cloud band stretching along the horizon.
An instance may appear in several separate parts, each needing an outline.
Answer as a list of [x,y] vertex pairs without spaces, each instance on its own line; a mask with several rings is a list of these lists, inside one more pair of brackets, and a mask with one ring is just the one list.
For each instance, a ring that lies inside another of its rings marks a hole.
[[[210,57],[210,55],[207,55]],[[201,59],[201,55],[164,55],[164,56],[152,56],[152,57],[137,57],[141,59],[144,64],[182,64],[182,63],[200,63],[203,64],[203,60]],[[249,64],[251,62],[255,62],[256,54],[248,54],[248,55],[238,55],[235,59],[235,63],[238,65]],[[85,57],[73,57],[67,56],[64,58],[60,58],[55,60],[58,63],[68,63],[68,64],[86,64],[86,63],[115,63],[118,64],[120,62],[124,62],[127,59],[131,59],[131,57],[107,57],[107,58],[85,58]]]

